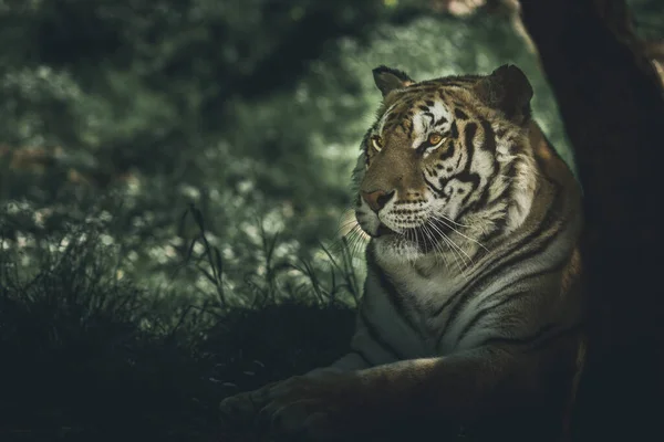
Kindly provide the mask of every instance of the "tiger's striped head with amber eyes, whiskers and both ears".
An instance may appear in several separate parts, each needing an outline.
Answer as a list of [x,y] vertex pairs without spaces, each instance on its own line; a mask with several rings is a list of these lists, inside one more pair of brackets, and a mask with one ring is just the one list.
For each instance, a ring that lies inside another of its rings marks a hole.
[[504,65],[415,82],[380,66],[373,75],[383,102],[362,141],[355,217],[381,253],[417,259],[517,229],[537,182],[523,73]]

